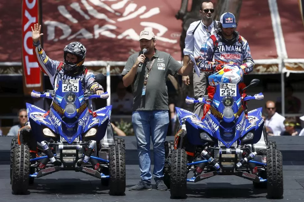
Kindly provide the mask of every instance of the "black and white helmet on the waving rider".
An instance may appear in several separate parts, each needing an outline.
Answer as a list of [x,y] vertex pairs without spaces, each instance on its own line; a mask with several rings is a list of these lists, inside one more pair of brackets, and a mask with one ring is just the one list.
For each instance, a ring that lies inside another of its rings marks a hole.
[[[63,52],[64,71],[72,75],[81,74],[85,68],[83,66],[84,60],[86,58],[86,48],[84,47],[84,45],[78,41],[75,41],[70,43],[69,45],[66,45],[66,47],[63,49]],[[66,55],[68,53],[77,56],[76,63],[66,61]]]

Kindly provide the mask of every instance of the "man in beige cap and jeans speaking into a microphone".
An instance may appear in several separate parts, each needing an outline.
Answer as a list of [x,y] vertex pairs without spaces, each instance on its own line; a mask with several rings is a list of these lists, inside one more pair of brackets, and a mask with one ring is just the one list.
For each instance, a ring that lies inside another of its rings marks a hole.
[[141,181],[130,187],[130,191],[151,190],[150,136],[154,150],[153,175],[156,189],[167,190],[163,181],[165,164],[165,137],[169,125],[168,74],[187,76],[193,62],[181,65],[170,54],[155,48],[156,38],[152,31],[143,30],[139,34],[140,51],[128,58],[121,75],[123,85],[131,85],[134,95],[132,124],[137,140]]

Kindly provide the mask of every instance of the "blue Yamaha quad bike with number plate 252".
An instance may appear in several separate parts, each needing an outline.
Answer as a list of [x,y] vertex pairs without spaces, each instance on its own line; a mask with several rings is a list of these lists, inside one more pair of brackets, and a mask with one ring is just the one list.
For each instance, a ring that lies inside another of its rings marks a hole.
[[[212,75],[210,76],[212,77]],[[209,79],[210,79],[209,77]],[[255,86],[253,79],[246,87]],[[205,97],[186,98],[186,103],[211,104],[200,119],[197,114],[176,107],[179,121],[175,141],[165,141],[164,182],[172,198],[186,197],[186,183],[216,175],[236,175],[253,181],[254,188],[267,188],[269,198],[283,195],[282,154],[268,141],[262,108],[248,112],[242,103],[263,99],[262,93],[242,98],[238,85],[217,85],[212,102]],[[193,177],[187,174],[193,171]]]

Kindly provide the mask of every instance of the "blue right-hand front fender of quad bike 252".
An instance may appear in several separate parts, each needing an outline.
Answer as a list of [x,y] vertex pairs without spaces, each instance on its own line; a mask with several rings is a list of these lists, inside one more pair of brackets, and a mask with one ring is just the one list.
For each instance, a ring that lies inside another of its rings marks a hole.
[[249,131],[254,131],[254,137],[251,141],[246,141],[246,144],[256,144],[262,136],[264,119],[262,118],[262,108],[253,109],[248,112],[248,120],[246,127],[242,133],[242,137]]

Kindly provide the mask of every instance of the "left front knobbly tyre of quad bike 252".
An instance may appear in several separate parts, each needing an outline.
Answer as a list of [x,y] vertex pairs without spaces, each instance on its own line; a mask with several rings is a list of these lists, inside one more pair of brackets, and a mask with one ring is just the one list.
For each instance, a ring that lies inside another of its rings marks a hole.
[[184,149],[171,153],[170,194],[172,198],[186,198],[187,154]]

